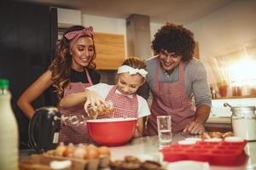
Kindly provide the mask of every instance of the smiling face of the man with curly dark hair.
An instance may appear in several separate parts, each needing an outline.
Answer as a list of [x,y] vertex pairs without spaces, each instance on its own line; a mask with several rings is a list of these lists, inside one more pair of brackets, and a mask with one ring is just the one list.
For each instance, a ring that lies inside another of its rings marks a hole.
[[161,50],[159,54],[160,65],[165,71],[173,71],[182,60],[181,54],[168,53],[166,50]]

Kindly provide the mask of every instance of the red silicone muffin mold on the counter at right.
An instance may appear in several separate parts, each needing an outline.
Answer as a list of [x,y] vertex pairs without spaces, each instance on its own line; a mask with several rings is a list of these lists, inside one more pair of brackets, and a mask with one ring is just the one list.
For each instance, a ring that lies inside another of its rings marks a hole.
[[244,147],[247,141],[242,142],[206,142],[195,144],[177,144],[160,150],[165,161],[207,161],[211,165],[236,166],[241,165],[247,159]]

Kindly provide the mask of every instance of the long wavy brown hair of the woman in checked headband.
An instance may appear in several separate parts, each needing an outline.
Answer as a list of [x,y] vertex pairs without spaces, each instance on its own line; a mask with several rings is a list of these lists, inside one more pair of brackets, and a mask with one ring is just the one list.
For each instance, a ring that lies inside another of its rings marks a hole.
[[[70,82],[70,72],[71,72],[71,65],[72,65],[72,55],[69,53],[70,50],[70,42],[72,40],[68,40],[64,37],[65,34],[71,31],[80,31],[83,30],[84,26],[71,26],[64,32],[61,40],[56,43],[55,47],[55,58],[53,59],[51,65],[49,65],[49,71],[51,71],[51,81],[53,82],[53,86],[56,89],[57,97],[59,101],[63,97],[64,88],[66,88]],[[82,36],[83,37],[83,36]],[[86,35],[84,35],[86,37]],[[91,35],[93,44],[94,38]],[[94,49],[94,56],[90,60],[88,68],[96,68],[96,64],[93,61],[96,58],[96,48],[93,45]]]

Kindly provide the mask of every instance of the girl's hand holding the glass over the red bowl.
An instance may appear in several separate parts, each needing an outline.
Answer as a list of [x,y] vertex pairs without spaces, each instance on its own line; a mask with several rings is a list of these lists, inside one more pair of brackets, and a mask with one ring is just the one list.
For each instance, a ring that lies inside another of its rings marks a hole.
[[84,104],[84,110],[87,112],[88,105],[94,108],[96,105],[106,105],[104,99],[96,92],[87,90],[85,92],[86,102]]

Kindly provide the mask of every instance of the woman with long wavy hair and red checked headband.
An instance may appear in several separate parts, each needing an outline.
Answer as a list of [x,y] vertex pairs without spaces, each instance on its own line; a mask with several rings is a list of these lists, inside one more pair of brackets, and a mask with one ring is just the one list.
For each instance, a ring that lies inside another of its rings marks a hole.
[[[59,99],[61,114],[85,116],[84,89],[100,82],[100,75],[95,71],[96,49],[93,39],[93,28],[72,26],[67,29],[56,44],[55,59],[49,69],[33,82],[20,96],[17,104],[28,118],[32,118],[35,110],[32,101],[49,86],[54,86]],[[72,100],[65,104],[66,96]],[[65,107],[63,106],[65,105]],[[86,125],[75,127],[72,124],[61,124],[59,141],[65,143],[82,143],[89,141]]]

